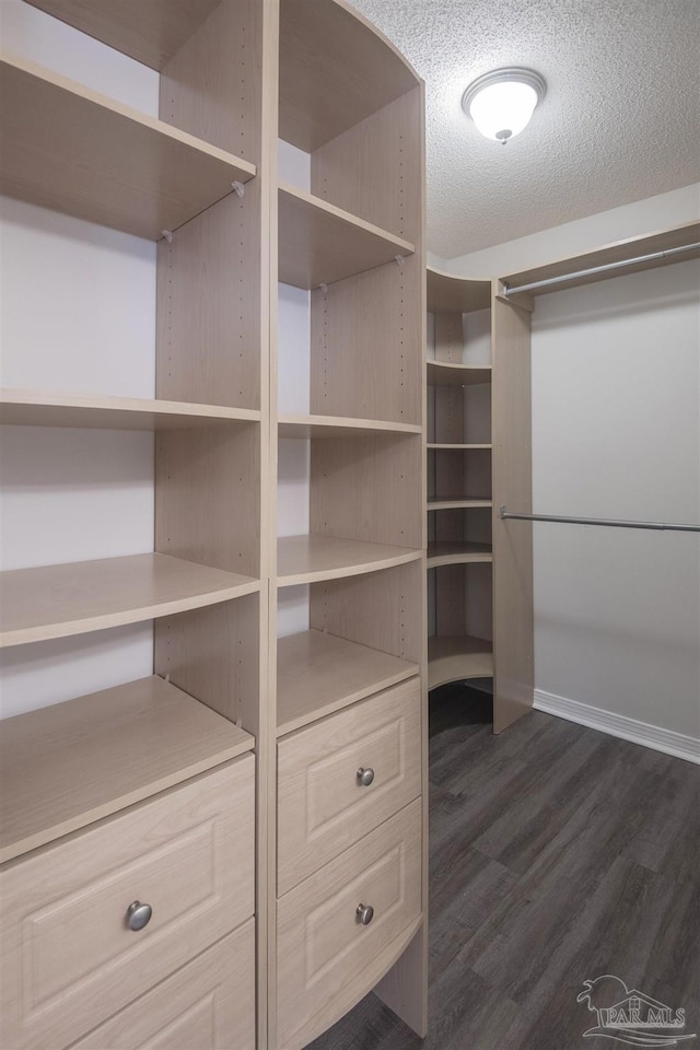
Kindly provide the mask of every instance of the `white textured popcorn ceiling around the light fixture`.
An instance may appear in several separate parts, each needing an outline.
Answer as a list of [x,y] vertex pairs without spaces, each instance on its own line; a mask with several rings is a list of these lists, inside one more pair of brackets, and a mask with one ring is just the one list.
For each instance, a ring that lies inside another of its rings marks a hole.
[[[700,0],[352,0],[425,81],[428,248],[454,258],[700,180]],[[462,110],[501,66],[547,81],[508,145]]]

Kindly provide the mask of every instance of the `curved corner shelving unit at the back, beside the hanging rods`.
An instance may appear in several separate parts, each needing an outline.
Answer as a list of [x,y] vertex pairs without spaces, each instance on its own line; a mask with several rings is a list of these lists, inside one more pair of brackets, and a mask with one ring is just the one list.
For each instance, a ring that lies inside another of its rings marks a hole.
[[[513,643],[504,619],[509,585],[499,591],[497,508],[514,455],[526,469],[523,489],[529,487],[529,429],[515,451],[508,418],[513,398],[529,406],[529,381],[512,389],[522,365],[501,338],[491,281],[429,269],[428,310],[429,688],[492,678],[499,733],[527,710],[509,701],[500,663]],[[532,646],[532,602],[528,616]]]

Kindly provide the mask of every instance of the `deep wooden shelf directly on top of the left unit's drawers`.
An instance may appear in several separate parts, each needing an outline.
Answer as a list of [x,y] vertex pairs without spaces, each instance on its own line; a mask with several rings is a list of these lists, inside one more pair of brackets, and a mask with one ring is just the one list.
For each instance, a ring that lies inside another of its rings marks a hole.
[[155,676],[7,719],[0,861],[248,751],[254,738]]

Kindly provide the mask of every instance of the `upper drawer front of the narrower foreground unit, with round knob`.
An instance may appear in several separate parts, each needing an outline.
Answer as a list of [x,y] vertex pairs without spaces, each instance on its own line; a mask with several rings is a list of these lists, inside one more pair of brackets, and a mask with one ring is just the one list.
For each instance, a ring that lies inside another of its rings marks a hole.
[[420,795],[420,726],[411,678],[280,740],[278,896]]

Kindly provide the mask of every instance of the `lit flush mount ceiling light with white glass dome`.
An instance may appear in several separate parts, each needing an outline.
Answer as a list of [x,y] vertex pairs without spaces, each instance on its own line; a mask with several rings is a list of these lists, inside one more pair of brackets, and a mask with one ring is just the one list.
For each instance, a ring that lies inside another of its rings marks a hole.
[[546,92],[544,78],[534,69],[495,69],[469,84],[462,96],[462,108],[481,135],[505,145],[526,127]]

